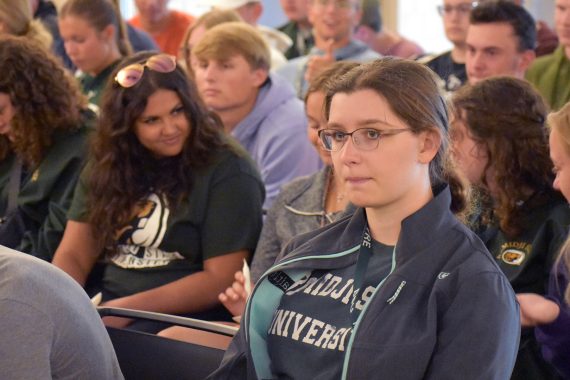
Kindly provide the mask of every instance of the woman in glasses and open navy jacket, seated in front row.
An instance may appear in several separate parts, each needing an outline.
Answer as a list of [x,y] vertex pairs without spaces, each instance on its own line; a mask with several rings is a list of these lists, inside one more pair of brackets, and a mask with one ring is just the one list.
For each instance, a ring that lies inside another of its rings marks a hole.
[[453,215],[466,200],[434,74],[392,58],[358,66],[325,112],[319,135],[358,209],[287,245],[212,378],[508,378],[515,296]]

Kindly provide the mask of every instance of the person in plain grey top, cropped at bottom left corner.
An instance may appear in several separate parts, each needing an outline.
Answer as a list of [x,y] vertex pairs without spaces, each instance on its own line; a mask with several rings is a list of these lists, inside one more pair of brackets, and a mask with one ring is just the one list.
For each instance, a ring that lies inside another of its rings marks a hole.
[[4,379],[123,379],[85,292],[53,265],[0,247]]

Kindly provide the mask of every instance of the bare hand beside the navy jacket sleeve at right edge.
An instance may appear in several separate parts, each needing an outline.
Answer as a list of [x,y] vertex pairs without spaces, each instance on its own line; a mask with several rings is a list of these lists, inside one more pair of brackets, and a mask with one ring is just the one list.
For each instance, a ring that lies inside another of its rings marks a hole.
[[517,294],[521,308],[521,325],[533,327],[553,322],[560,314],[556,302],[533,293]]

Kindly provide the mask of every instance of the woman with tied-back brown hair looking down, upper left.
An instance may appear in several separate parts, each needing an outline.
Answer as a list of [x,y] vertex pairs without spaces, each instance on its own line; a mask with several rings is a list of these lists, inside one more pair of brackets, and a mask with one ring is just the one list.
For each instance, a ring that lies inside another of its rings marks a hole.
[[131,53],[124,23],[109,0],[67,0],[59,12],[59,30],[80,70],[83,93],[98,110],[111,72]]

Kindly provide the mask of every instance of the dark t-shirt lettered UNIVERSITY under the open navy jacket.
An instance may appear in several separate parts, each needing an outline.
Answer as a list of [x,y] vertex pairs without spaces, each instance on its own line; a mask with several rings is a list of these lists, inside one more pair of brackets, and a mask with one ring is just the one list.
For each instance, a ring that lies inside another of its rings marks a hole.
[[272,372],[277,378],[338,379],[353,321],[390,273],[394,247],[373,241],[364,284],[353,286],[357,264],[314,270],[283,295],[268,331]]

